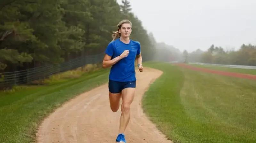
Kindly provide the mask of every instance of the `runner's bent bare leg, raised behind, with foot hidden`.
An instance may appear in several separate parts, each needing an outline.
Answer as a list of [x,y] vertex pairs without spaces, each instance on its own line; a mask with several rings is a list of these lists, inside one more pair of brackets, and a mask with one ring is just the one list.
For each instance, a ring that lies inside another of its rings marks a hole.
[[110,108],[113,112],[117,112],[120,106],[121,93],[109,92]]

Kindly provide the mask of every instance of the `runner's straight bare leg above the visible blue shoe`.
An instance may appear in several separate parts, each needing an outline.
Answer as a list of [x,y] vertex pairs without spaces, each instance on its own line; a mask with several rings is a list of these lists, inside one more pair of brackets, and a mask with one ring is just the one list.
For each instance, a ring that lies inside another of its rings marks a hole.
[[122,105],[121,105],[121,117],[120,117],[120,126],[119,134],[124,133],[129,120],[130,120],[130,105],[134,99],[135,88],[125,88],[122,90]]

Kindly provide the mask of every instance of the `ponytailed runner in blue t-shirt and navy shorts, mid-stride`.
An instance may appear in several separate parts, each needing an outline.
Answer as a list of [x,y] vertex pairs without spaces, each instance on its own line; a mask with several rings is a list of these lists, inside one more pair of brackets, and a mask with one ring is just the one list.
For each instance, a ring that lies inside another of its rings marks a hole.
[[129,38],[132,32],[132,23],[123,20],[117,25],[118,30],[112,34],[113,41],[110,42],[105,51],[103,68],[111,67],[109,73],[108,89],[110,108],[113,112],[119,109],[120,99],[121,117],[119,133],[116,142],[126,143],[124,131],[130,120],[130,105],[133,101],[136,87],[135,59],[140,72],[143,71],[140,43]]

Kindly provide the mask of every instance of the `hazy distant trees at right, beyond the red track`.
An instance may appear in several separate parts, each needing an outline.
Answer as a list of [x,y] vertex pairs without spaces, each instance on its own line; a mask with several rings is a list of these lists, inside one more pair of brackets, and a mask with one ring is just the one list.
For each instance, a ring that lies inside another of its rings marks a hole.
[[197,49],[188,53],[187,62],[256,66],[256,45],[242,44],[238,50],[224,50],[212,44],[207,51]]

